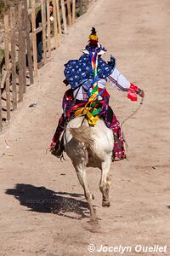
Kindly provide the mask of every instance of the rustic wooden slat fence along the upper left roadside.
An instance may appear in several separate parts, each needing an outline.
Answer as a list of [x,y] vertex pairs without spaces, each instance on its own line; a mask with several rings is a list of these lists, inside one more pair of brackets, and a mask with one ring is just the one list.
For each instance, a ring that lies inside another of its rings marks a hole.
[[[51,3],[53,15],[50,14]],[[42,61],[45,64],[51,57],[51,50],[58,48],[62,33],[74,24],[76,4],[76,0],[41,0],[38,3],[36,0],[20,0],[4,15],[4,32],[0,34],[0,47],[4,50],[0,73],[0,131],[3,121],[8,121],[11,111],[23,101],[27,85],[33,84],[38,76],[37,34],[42,34]],[[39,26],[37,12],[42,17]]]

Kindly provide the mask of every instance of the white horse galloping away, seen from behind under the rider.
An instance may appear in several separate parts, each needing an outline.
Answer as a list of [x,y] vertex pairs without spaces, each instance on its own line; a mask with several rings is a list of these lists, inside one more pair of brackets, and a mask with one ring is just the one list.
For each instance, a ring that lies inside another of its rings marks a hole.
[[101,119],[93,127],[88,125],[88,121],[83,116],[78,116],[72,119],[65,129],[65,151],[71,158],[78,180],[84,189],[90,215],[94,222],[97,222],[92,205],[94,195],[88,189],[86,167],[98,167],[101,170],[99,189],[103,195],[102,207],[110,207],[108,174],[111,166],[113,143],[113,132],[105,126]]

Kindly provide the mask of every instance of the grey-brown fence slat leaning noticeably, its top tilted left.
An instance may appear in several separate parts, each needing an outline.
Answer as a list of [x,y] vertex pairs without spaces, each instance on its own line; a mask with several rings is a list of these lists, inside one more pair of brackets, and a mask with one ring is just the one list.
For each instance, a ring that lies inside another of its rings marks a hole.
[[25,15],[26,15],[26,53],[27,53],[27,62],[28,62],[28,70],[30,74],[30,84],[34,84],[34,78],[33,78],[33,70],[32,70],[32,58],[31,58],[31,40],[30,40],[30,20],[28,17],[28,5],[27,1],[24,0],[25,4]]

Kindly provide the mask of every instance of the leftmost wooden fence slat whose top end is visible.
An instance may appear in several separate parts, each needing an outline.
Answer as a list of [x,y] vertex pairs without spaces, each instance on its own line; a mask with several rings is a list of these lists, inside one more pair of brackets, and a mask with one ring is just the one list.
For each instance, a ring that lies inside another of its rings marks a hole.
[[4,38],[4,45],[5,45],[5,68],[7,71],[6,76],[6,103],[7,103],[7,119],[10,119],[10,86],[9,86],[9,50],[8,50],[8,15],[4,15],[4,28],[5,28],[5,38]]

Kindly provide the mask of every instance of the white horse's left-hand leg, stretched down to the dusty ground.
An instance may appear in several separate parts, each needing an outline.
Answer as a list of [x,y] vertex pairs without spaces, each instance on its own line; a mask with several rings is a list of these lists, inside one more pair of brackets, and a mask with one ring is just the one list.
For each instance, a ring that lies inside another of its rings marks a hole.
[[90,210],[90,217],[91,217],[91,219],[94,223],[97,223],[98,220],[97,220],[97,217],[95,215],[94,207],[93,207],[93,204],[92,204],[92,201],[93,201],[94,197],[88,189],[88,181],[87,181],[85,166],[83,166],[83,165],[74,165],[74,167],[75,167],[76,172],[77,172],[78,180],[79,180],[80,184],[82,185],[82,188],[84,189],[84,195],[86,197],[86,200],[88,201],[89,210]]

